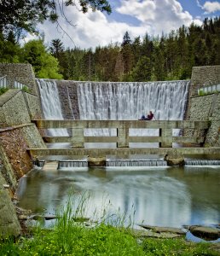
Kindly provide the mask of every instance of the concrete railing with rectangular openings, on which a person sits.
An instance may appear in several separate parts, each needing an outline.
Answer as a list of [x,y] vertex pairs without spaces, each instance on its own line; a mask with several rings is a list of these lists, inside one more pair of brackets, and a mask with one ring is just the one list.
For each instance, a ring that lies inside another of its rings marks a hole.
[[[116,143],[117,148],[129,148],[129,143],[159,143],[159,148],[172,148],[172,143],[204,143],[205,137],[174,137],[174,129],[204,131],[209,121],[185,120],[32,120],[39,129],[72,129],[72,137],[44,137],[48,143],[72,143],[72,148],[84,148],[84,143]],[[84,136],[84,129],[116,129],[117,136]],[[159,136],[130,136],[130,129],[159,129]],[[199,132],[198,132],[199,134]]]

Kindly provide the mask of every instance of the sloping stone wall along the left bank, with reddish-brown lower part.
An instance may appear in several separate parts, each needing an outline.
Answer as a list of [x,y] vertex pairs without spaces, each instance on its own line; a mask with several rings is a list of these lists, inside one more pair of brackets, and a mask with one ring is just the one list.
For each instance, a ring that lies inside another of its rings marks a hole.
[[40,116],[38,96],[22,90],[8,90],[0,96],[0,238],[20,233],[3,184],[14,193],[17,181],[33,167],[26,148],[46,148],[37,127],[31,123],[31,119]]

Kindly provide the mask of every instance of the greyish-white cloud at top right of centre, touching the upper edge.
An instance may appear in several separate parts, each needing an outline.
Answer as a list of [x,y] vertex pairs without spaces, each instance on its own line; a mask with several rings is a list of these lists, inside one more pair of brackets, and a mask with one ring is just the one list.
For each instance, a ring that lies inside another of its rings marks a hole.
[[177,0],[122,0],[122,6],[117,9],[120,14],[134,15],[142,21],[142,26],[148,25],[150,34],[171,32],[178,27],[189,26],[194,20],[193,16],[182,9]]

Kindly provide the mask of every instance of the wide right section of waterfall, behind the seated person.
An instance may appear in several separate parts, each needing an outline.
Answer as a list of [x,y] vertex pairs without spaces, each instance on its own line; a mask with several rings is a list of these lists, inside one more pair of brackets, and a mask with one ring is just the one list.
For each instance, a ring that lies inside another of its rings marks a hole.
[[[156,119],[183,119],[188,98],[188,80],[148,83],[78,82],[80,119],[140,119],[153,111]],[[140,133],[140,130],[138,132]],[[100,131],[98,131],[100,132]],[[107,135],[116,131],[103,129]],[[109,133],[108,133],[109,132]],[[177,136],[179,131],[174,131]],[[86,131],[94,135],[96,131]],[[158,131],[142,131],[142,135],[158,135]],[[136,131],[130,131],[131,136]]]

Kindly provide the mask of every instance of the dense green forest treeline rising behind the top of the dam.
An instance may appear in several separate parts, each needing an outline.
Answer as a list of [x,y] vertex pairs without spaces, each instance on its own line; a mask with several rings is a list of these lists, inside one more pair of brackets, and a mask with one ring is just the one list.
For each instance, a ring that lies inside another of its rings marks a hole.
[[206,18],[168,35],[131,40],[96,49],[65,49],[61,39],[20,45],[13,31],[0,34],[0,62],[31,63],[36,77],[91,81],[190,79],[192,67],[220,65],[220,17]]

